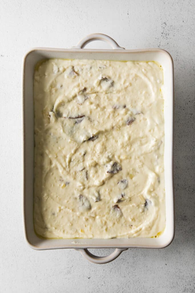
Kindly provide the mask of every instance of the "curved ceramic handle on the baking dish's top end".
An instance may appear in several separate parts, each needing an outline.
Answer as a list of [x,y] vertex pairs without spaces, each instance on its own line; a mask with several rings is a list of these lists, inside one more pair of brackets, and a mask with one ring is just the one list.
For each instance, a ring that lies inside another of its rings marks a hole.
[[115,50],[116,49],[117,50],[124,50],[125,49],[125,48],[120,47],[117,44],[117,42],[115,40],[113,40],[113,38],[109,37],[108,35],[99,34],[99,33],[87,35],[85,38],[80,40],[80,42],[78,42],[78,44],[73,48],[74,49],[83,49],[88,43],[93,42],[93,41],[106,42],[109,45],[111,45],[111,47]]

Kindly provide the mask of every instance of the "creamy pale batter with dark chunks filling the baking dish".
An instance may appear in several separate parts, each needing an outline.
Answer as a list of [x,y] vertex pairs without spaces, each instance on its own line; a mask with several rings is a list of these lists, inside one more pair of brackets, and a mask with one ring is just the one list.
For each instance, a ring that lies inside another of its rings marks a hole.
[[165,228],[163,71],[51,59],[34,74],[34,228],[48,238]]

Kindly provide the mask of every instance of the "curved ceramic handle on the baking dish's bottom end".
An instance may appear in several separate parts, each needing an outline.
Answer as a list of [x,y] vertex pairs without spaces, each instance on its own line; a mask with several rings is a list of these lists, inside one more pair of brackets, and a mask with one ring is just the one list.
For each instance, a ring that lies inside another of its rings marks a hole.
[[92,263],[103,264],[103,263],[110,263],[111,261],[118,258],[118,256],[128,248],[115,248],[115,250],[106,256],[97,256],[89,252],[87,248],[75,248],[75,250],[79,250],[80,253],[87,258],[87,260],[91,261]]

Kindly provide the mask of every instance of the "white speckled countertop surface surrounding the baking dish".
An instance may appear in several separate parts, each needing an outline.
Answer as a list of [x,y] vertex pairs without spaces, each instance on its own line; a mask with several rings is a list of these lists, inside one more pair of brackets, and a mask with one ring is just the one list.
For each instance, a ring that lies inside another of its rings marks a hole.
[[[3,0],[0,11],[0,292],[195,292],[195,2]],[[106,265],[74,250],[32,250],[22,222],[22,57],[31,47],[71,47],[94,32],[128,49],[168,50],[175,66],[175,239],[161,250],[129,249]]]

